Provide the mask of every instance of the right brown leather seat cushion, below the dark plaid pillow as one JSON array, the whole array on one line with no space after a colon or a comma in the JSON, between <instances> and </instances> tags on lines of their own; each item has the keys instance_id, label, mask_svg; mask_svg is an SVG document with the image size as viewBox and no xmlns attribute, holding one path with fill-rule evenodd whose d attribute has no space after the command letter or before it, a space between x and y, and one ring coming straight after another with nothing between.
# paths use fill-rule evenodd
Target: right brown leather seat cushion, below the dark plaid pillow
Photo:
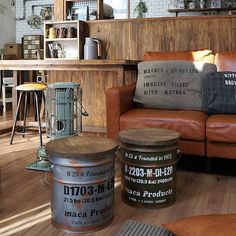
<instances>
[{"instance_id":1,"label":"right brown leather seat cushion, below the dark plaid pillow","mask_svg":"<svg viewBox=\"0 0 236 236\"><path fill-rule=\"evenodd\" d=\"M206 137L211 142L236 142L236 115L211 115L206 122Z\"/></svg>"}]
</instances>

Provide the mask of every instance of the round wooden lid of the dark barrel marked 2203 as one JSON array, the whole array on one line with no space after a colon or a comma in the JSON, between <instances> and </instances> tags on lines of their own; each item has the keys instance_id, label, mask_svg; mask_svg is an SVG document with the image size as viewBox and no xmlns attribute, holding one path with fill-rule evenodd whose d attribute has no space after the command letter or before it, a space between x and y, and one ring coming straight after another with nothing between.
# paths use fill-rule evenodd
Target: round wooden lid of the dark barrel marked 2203
<instances>
[{"instance_id":1,"label":"round wooden lid of the dark barrel marked 2203","mask_svg":"<svg viewBox=\"0 0 236 236\"><path fill-rule=\"evenodd\" d=\"M175 144L180 134L163 128L134 128L119 132L121 142L133 145L162 146Z\"/></svg>"}]
</instances>

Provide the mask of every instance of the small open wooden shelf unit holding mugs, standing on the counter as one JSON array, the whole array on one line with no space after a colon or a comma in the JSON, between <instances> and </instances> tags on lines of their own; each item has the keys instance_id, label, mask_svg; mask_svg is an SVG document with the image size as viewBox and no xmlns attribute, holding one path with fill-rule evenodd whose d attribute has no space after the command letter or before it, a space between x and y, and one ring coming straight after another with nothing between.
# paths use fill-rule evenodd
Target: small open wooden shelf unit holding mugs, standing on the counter
<instances>
[{"instance_id":1,"label":"small open wooden shelf unit holding mugs, standing on the counter","mask_svg":"<svg viewBox=\"0 0 236 236\"><path fill-rule=\"evenodd\" d=\"M74 27L75 37L73 38L47 38L46 32L49 28L55 28L56 30L61 27L68 29ZM50 56L49 45L53 45L53 48L57 45L61 45L64 51L64 58L52 58ZM84 22L83 21L45 21L44 22L44 59L73 59L78 60L83 58L83 46L84 46Z\"/></svg>"}]
</instances>

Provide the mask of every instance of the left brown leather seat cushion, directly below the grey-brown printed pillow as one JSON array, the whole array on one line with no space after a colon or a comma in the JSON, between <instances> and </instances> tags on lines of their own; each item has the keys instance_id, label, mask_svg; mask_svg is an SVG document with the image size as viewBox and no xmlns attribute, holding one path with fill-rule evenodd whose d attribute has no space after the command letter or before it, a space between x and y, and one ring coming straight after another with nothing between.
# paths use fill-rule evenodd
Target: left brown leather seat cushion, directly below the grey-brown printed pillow
<instances>
[{"instance_id":1,"label":"left brown leather seat cushion, directly below the grey-brown printed pillow","mask_svg":"<svg viewBox=\"0 0 236 236\"><path fill-rule=\"evenodd\" d=\"M120 117L120 129L161 127L179 132L182 139L203 141L206 120L201 111L135 108Z\"/></svg>"}]
</instances>

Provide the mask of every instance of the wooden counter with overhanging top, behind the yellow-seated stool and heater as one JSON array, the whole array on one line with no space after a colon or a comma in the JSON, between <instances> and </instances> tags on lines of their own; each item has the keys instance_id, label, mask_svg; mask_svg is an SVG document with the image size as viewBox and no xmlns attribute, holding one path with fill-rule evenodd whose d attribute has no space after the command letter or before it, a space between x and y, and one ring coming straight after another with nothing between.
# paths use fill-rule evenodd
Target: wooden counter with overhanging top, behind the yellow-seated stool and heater
<instances>
[{"instance_id":1,"label":"wooden counter with overhanging top, behind the yellow-seated stool and heater","mask_svg":"<svg viewBox=\"0 0 236 236\"><path fill-rule=\"evenodd\" d=\"M0 70L13 70L14 87L19 83L17 71L46 70L48 83L78 82L82 88L82 103L89 116L83 117L83 130L106 132L105 92L109 87L122 86L136 80L134 60L3 60ZM13 114L17 94L13 89Z\"/></svg>"}]
</instances>

